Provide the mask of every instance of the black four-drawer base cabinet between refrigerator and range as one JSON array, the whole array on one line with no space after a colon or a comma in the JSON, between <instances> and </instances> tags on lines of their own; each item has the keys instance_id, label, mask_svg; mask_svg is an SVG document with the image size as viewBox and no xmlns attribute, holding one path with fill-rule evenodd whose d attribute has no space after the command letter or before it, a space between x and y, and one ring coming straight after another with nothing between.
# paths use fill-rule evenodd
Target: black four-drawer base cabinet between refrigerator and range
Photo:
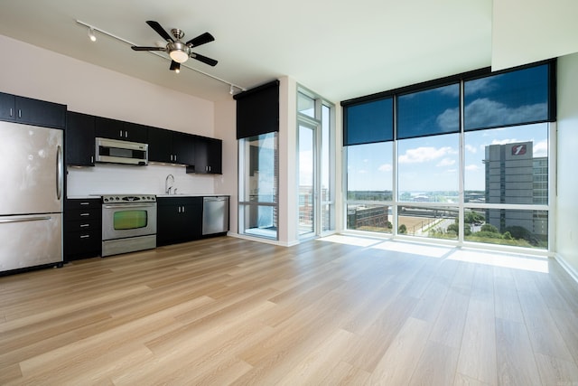
<instances>
[{"instance_id":1,"label":"black four-drawer base cabinet between refrigerator and range","mask_svg":"<svg viewBox=\"0 0 578 386\"><path fill-rule=\"evenodd\" d=\"M102 210L99 198L64 201L64 260L100 256Z\"/></svg>"}]
</instances>

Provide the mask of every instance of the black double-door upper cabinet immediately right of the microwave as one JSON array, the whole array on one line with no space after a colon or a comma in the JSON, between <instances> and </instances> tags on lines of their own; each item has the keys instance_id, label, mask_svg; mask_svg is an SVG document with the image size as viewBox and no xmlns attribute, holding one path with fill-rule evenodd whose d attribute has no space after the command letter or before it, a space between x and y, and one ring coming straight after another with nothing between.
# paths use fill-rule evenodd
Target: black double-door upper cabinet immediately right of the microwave
<instances>
[{"instance_id":1,"label":"black double-door upper cabinet immediately right of the microwave","mask_svg":"<svg viewBox=\"0 0 578 386\"><path fill-rule=\"evenodd\" d=\"M195 136L148 127L148 160L166 164L194 165Z\"/></svg>"}]
</instances>

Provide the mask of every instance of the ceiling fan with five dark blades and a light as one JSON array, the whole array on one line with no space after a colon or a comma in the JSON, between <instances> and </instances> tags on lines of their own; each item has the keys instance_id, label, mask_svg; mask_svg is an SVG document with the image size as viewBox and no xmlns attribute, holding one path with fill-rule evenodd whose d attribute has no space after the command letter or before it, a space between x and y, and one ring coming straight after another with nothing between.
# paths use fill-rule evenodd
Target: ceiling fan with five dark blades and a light
<instances>
[{"instance_id":1,"label":"ceiling fan with five dark blades and a light","mask_svg":"<svg viewBox=\"0 0 578 386\"><path fill-rule=\"evenodd\" d=\"M215 40L213 35L210 33L201 33L196 38L191 39L188 42L182 42L182 37L184 33L177 29L173 28L171 30L172 36L167 33L161 24L149 20L146 24L150 25L151 28L156 31L161 37L167 42L165 47L139 47L139 46L132 46L131 48L135 51L163 51L169 54L171 57L171 70L179 72L181 70L181 63L184 63L189 58L196 59L197 61L202 61L205 64L209 64L210 66L217 65L218 61L214 59L208 58L206 56L200 55L196 52L191 52L193 47L198 47L201 44L205 44L207 42L212 42Z\"/></svg>"}]
</instances>

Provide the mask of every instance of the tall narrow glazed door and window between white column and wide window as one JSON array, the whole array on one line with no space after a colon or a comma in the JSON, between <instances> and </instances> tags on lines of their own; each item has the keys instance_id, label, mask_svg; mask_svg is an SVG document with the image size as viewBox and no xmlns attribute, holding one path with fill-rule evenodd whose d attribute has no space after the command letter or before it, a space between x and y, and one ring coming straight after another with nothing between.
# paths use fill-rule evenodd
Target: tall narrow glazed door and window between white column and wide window
<instances>
[{"instance_id":1,"label":"tall narrow glazed door and window between white column and wide window","mask_svg":"<svg viewBox=\"0 0 578 386\"><path fill-rule=\"evenodd\" d=\"M300 238L335 229L333 106L311 91L297 92L298 232Z\"/></svg>"}]
</instances>

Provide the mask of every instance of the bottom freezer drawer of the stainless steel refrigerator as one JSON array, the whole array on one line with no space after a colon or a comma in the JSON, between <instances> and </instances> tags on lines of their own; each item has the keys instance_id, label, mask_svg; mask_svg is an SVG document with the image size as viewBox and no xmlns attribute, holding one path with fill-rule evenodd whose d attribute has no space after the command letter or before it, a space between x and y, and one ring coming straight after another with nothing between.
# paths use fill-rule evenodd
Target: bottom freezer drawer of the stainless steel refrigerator
<instances>
[{"instance_id":1,"label":"bottom freezer drawer of the stainless steel refrigerator","mask_svg":"<svg viewBox=\"0 0 578 386\"><path fill-rule=\"evenodd\" d=\"M0 216L0 271L62 263L62 214Z\"/></svg>"}]
</instances>

